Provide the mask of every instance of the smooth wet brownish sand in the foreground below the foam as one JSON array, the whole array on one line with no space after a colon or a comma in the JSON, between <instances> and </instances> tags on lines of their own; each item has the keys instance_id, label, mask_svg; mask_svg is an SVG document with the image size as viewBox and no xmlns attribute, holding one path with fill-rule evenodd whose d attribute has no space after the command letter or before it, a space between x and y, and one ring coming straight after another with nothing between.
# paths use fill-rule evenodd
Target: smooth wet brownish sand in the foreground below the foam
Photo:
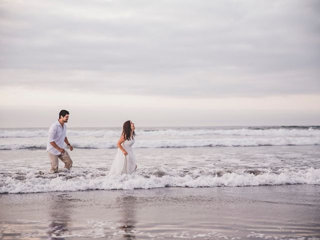
<instances>
[{"instance_id":1,"label":"smooth wet brownish sand in the foreground below the foam","mask_svg":"<svg viewBox=\"0 0 320 240\"><path fill-rule=\"evenodd\" d=\"M0 239L314 240L320 186L0 194L0 223Z\"/></svg>"}]
</instances>

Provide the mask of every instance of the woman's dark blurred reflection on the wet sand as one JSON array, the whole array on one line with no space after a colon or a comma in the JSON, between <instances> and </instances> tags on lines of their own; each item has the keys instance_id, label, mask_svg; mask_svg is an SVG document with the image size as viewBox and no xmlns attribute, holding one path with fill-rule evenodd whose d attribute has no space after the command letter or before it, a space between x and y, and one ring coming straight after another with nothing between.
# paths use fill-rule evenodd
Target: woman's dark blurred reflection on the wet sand
<instances>
[{"instance_id":1,"label":"woman's dark blurred reflection on the wet sand","mask_svg":"<svg viewBox=\"0 0 320 240\"><path fill-rule=\"evenodd\" d=\"M135 239L136 197L132 195L117 197L117 202L121 212L119 229L123 230L122 236L124 239Z\"/></svg>"}]
</instances>

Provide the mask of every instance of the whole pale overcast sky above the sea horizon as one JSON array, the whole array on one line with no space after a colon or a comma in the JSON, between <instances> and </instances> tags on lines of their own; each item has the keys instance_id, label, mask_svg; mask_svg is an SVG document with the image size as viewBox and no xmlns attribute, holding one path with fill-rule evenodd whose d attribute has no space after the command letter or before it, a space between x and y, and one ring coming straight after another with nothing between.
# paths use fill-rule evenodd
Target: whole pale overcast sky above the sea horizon
<instances>
[{"instance_id":1,"label":"whole pale overcast sky above the sea horizon","mask_svg":"<svg viewBox=\"0 0 320 240\"><path fill-rule=\"evenodd\" d=\"M320 125L318 0L0 0L0 127Z\"/></svg>"}]
</instances>

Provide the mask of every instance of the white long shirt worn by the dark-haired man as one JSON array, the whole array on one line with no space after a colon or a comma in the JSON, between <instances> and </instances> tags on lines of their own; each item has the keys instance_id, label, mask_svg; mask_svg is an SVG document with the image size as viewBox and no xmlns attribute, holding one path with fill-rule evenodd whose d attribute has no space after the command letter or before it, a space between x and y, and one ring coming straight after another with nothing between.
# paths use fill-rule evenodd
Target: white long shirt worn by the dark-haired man
<instances>
[{"instance_id":1,"label":"white long shirt worn by the dark-haired man","mask_svg":"<svg viewBox=\"0 0 320 240\"><path fill-rule=\"evenodd\" d=\"M46 150L54 155L60 155L57 149L55 149L50 142L54 141L60 148L63 148L64 138L66 136L66 125L63 124L63 128L58 120L56 120L49 128L49 137L46 144Z\"/></svg>"}]
</instances>

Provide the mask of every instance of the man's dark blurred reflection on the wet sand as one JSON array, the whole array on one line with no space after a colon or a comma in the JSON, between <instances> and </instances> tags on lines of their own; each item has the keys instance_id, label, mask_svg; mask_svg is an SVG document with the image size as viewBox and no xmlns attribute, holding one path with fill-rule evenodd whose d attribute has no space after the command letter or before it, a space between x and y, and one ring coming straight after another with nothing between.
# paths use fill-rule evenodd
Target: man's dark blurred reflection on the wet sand
<instances>
[{"instance_id":1,"label":"man's dark blurred reflection on the wet sand","mask_svg":"<svg viewBox=\"0 0 320 240\"><path fill-rule=\"evenodd\" d=\"M49 239L64 240L63 235L68 232L68 224L71 220L71 196L68 194L52 195L48 206L50 224L47 234Z\"/></svg>"}]
</instances>

